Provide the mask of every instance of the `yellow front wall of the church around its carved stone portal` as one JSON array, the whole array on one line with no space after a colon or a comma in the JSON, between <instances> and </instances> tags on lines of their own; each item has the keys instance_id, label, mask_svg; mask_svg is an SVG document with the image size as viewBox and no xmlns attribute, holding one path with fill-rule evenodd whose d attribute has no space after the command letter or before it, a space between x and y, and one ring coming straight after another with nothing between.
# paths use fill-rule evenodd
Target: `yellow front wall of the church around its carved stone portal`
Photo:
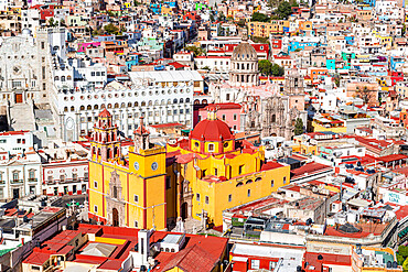
<instances>
[{"instance_id":1,"label":"yellow front wall of the church around its carved stone portal","mask_svg":"<svg viewBox=\"0 0 408 272\"><path fill-rule=\"evenodd\" d=\"M125 216L124 224L131 228L153 228L153 225L157 229L167 228L165 153L163 148L150 153L148 151L144 153L148 154L147 156L130 152L129 168L109 162L89 162L90 214L107 219L105 196L109 194L111 172L116 171L122 187L121 195L126 202L125 215L119 215ZM135 161L139 162L139 171L135 168ZM158 163L155 171L151 168L153 162ZM95 211L95 205L97 205L97 211Z\"/></svg>"}]
</instances>

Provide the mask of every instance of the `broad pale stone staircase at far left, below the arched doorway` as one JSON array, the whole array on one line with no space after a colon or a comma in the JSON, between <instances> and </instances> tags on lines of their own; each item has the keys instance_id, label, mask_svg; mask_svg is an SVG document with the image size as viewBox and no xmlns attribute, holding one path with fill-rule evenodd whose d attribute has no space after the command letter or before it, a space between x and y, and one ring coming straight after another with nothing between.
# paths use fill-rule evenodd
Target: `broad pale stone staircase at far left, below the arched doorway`
<instances>
[{"instance_id":1,"label":"broad pale stone staircase at far left, below the arched doorway","mask_svg":"<svg viewBox=\"0 0 408 272\"><path fill-rule=\"evenodd\" d=\"M33 105L31 104L15 104L9 106L8 122L10 130L35 130L35 118Z\"/></svg>"}]
</instances>

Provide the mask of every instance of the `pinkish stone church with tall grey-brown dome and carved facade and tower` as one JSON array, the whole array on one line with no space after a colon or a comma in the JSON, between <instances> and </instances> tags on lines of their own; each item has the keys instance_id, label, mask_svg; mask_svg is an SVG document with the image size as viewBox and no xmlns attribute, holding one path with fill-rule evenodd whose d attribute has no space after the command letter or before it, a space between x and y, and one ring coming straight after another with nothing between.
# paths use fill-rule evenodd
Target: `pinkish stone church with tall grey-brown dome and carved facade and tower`
<instances>
[{"instance_id":1,"label":"pinkish stone church with tall grey-brown dome and carved facade and tower","mask_svg":"<svg viewBox=\"0 0 408 272\"><path fill-rule=\"evenodd\" d=\"M228 83L210 85L214 102L238 102L243 106L240 129L262 137L293 137L294 123L307 123L303 77L299 70L287 70L284 86L259 84L258 57L247 39L235 47L230 58Z\"/></svg>"}]
</instances>

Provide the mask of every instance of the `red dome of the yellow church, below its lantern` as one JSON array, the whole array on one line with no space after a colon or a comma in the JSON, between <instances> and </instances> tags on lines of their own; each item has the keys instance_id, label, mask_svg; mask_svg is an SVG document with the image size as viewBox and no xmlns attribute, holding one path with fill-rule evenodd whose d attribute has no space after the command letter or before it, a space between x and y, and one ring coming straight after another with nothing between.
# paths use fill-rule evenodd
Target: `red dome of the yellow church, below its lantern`
<instances>
[{"instance_id":1,"label":"red dome of the yellow church, below its lantern","mask_svg":"<svg viewBox=\"0 0 408 272\"><path fill-rule=\"evenodd\" d=\"M194 130L190 133L190 139L198 141L225 141L233 140L234 135L230 132L228 124L222 120L202 120L195 126Z\"/></svg>"}]
</instances>

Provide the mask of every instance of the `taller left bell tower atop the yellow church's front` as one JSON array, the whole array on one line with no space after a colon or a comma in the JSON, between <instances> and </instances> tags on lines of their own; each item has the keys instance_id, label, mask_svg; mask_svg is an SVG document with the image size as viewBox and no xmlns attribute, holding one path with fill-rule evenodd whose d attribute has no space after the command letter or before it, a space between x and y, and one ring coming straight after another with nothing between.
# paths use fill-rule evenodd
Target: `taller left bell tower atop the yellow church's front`
<instances>
[{"instance_id":1,"label":"taller left bell tower atop the yellow church's front","mask_svg":"<svg viewBox=\"0 0 408 272\"><path fill-rule=\"evenodd\" d=\"M90 139L92 159L95 161L118 162L121 156L118 128L107 109L100 111Z\"/></svg>"}]
</instances>

